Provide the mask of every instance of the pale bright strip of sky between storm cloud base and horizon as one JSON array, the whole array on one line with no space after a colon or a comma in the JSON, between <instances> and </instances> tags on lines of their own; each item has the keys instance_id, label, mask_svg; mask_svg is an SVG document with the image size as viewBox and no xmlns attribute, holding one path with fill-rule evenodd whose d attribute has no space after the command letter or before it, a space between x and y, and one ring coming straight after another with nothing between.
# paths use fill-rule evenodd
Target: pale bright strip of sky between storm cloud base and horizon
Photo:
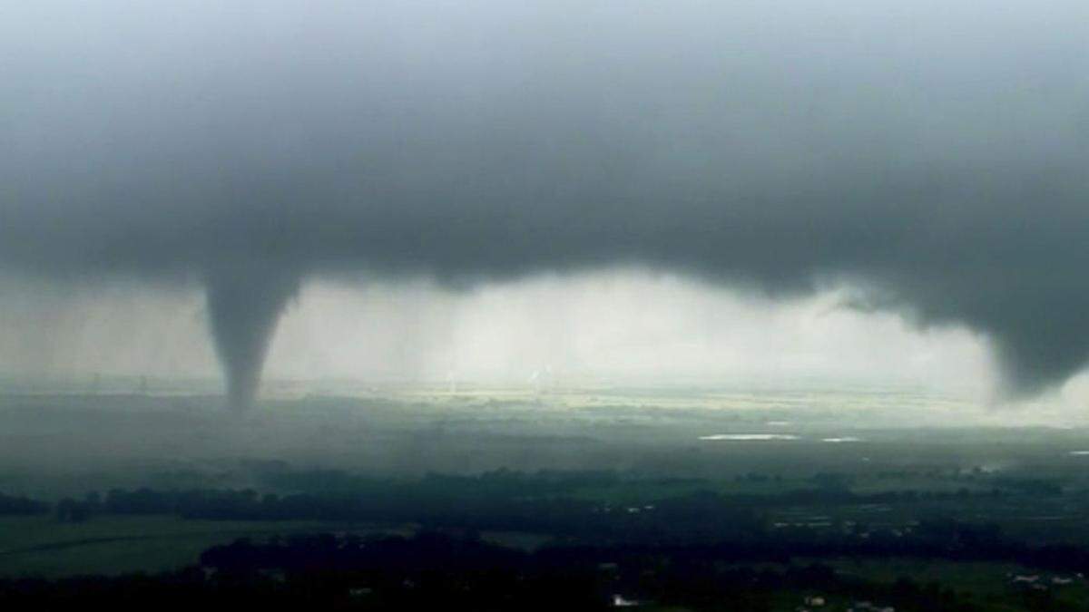
<instances>
[{"instance_id":1,"label":"pale bright strip of sky between storm cloud base and horizon","mask_svg":"<svg viewBox=\"0 0 1089 612\"><path fill-rule=\"evenodd\" d=\"M844 291L772 302L673 274L546 276L451 293L428 282L315 282L289 306L280 379L466 384L910 384L982 395L987 348L956 328L840 307ZM196 287L32 283L0 309L0 372L217 375ZM44 331L45 330L45 331ZM834 357L834 358L833 358Z\"/></svg>"}]
</instances>

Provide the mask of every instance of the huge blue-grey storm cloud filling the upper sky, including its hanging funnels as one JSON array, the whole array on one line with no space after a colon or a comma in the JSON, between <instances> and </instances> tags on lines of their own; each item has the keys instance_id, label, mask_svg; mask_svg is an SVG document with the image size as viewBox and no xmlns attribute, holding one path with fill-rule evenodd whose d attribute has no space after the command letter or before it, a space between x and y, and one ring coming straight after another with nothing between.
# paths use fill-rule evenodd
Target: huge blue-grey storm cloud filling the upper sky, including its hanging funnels
<instances>
[{"instance_id":1,"label":"huge blue-grey storm cloud filling the upper sky, including its hanging funnels","mask_svg":"<svg viewBox=\"0 0 1089 612\"><path fill-rule=\"evenodd\" d=\"M849 281L1014 391L1089 360L1081 2L169 4L3 9L0 257L199 276L242 395L357 269Z\"/></svg>"}]
</instances>

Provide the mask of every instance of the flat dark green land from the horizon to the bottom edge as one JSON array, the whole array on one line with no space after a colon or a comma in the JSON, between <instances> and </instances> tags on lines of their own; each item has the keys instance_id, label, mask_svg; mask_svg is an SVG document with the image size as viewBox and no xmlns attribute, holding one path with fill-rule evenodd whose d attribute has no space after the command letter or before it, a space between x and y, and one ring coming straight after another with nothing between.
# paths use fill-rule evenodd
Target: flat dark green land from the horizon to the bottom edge
<instances>
[{"instance_id":1,"label":"flat dark green land from the horizon to the bottom edge","mask_svg":"<svg viewBox=\"0 0 1089 612\"><path fill-rule=\"evenodd\" d=\"M4 396L0 602L1089 602L1089 430L1056 415L865 389L277 397L238 416L167 390Z\"/></svg>"}]
</instances>

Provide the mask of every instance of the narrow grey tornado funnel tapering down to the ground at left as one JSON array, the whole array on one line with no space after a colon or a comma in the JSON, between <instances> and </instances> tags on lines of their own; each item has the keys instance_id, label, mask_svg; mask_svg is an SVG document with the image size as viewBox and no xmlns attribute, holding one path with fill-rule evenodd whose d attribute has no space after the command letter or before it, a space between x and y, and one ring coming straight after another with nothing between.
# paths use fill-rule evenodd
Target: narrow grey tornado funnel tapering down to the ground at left
<instances>
[{"instance_id":1,"label":"narrow grey tornado funnel tapering down to the ground at left","mask_svg":"<svg viewBox=\"0 0 1089 612\"><path fill-rule=\"evenodd\" d=\"M207 273L208 317L231 408L257 396L277 322L298 291L298 274L260 264L217 266Z\"/></svg>"}]
</instances>

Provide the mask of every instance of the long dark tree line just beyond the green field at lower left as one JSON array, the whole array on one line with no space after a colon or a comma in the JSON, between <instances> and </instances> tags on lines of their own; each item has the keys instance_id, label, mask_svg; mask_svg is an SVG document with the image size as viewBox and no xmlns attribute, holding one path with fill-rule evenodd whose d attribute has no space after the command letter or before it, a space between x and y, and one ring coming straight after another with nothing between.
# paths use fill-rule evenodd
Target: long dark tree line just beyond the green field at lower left
<instances>
[{"instance_id":1,"label":"long dark tree line just beyond the green field at lower left","mask_svg":"<svg viewBox=\"0 0 1089 612\"><path fill-rule=\"evenodd\" d=\"M65 498L57 517L86 521L99 514L170 514L185 518L222 521L366 521L378 523L464 524L487 529L572 533L578 524L608 533L613 527L639 528L648 523L693 518L707 525L727 518L748 529L756 515L771 509L803 505L897 504L916 501L965 499L960 492L889 491L860 494L837 488L798 489L771 494L694 492L657 500L644 512L627 515L625 507L559 494L562 489L534 491L525 484L481 484L462 477L432 476L416 482L360 480L354 487L319 492L260 494L252 489L134 490L113 489L105 497L88 493L83 500ZM993 491L977 495L1001 495ZM48 512L49 506L20 500L22 514ZM2 502L0 502L2 503ZM575 529L576 531L578 529Z\"/></svg>"}]
</instances>

